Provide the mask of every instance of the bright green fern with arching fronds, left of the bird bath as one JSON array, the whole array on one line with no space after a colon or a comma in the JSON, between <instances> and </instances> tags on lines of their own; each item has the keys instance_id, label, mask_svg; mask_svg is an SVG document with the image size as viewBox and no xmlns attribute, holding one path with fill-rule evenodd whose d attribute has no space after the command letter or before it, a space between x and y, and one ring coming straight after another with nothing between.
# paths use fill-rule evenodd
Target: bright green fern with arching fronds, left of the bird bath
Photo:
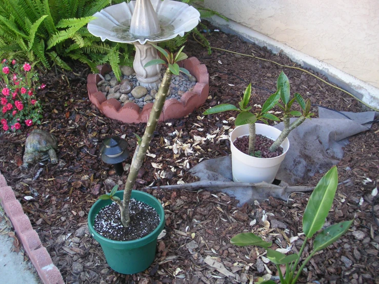
<instances>
[{"instance_id":1,"label":"bright green fern with arching fronds, left of the bird bath","mask_svg":"<svg viewBox=\"0 0 379 284\"><path fill-rule=\"evenodd\" d=\"M0 56L27 58L48 69L71 70L67 59L79 60L97 72L109 62L119 78L119 65L131 65L127 44L102 43L86 28L95 12L116 0L4 0L0 6Z\"/></svg>"}]
</instances>

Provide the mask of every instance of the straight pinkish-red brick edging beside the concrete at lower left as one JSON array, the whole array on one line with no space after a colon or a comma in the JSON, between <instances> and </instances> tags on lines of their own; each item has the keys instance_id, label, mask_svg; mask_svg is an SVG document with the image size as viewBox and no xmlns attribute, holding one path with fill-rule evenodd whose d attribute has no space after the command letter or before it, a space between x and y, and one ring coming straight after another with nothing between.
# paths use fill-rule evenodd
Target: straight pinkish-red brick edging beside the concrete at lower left
<instances>
[{"instance_id":1,"label":"straight pinkish-red brick edging beside the concrete at lower left","mask_svg":"<svg viewBox=\"0 0 379 284\"><path fill-rule=\"evenodd\" d=\"M12 188L7 186L7 181L1 173L0 203L12 221L14 230L44 284L64 284L61 272L53 265L49 253L42 246L37 232L33 230L28 216L24 214L20 202L16 199Z\"/></svg>"}]
</instances>

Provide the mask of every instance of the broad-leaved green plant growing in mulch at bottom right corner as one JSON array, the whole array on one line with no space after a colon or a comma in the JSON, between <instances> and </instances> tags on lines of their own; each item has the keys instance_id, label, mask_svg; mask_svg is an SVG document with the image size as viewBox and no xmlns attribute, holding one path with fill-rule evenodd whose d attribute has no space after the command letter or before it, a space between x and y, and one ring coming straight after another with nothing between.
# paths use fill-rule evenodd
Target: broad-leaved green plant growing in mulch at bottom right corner
<instances>
[{"instance_id":1,"label":"broad-leaved green plant growing in mulch at bottom right corner","mask_svg":"<svg viewBox=\"0 0 379 284\"><path fill-rule=\"evenodd\" d=\"M297 278L301 275L304 267L314 254L333 244L333 242L346 233L353 222L353 220L340 222L318 233L313 240L313 250L303 261L296 273L297 265L300 264L300 258L307 245L308 239L312 238L314 234L324 226L325 219L333 204L337 185L337 168L333 167L321 178L317 186L314 188L303 215L303 232L305 234L305 239L298 254L294 253L285 255L281 252L272 250L269 248L271 247L272 242L266 242L253 233L238 234L231 238L230 242L236 246L259 246L265 248L267 250L267 258L277 267L281 283L295 284ZM285 275L282 274L280 269L281 265L286 266ZM266 280L260 283L274 284L275 282L272 280Z\"/></svg>"}]
</instances>

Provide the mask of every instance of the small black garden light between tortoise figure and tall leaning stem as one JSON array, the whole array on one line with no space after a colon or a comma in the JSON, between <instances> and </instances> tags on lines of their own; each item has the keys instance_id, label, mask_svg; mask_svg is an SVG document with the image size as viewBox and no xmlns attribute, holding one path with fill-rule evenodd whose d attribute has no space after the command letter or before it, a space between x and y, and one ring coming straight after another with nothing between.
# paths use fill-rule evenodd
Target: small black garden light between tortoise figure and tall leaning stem
<instances>
[{"instance_id":1,"label":"small black garden light between tortoise figure and tall leaning stem","mask_svg":"<svg viewBox=\"0 0 379 284\"><path fill-rule=\"evenodd\" d=\"M102 160L106 164L112 164L116 173L120 176L124 172L123 161L129 157L129 151L126 149L127 147L127 141L117 136L105 139L100 146Z\"/></svg>"}]
</instances>

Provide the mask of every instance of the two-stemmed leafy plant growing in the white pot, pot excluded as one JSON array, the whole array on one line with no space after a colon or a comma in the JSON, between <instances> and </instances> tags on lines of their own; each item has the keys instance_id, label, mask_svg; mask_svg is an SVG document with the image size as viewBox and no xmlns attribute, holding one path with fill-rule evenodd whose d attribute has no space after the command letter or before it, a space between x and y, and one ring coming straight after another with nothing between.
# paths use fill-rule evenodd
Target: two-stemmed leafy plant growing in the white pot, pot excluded
<instances>
[{"instance_id":1,"label":"two-stemmed leafy plant growing in the white pot, pot excluded","mask_svg":"<svg viewBox=\"0 0 379 284\"><path fill-rule=\"evenodd\" d=\"M224 111L238 111L238 115L235 119L235 125L249 125L249 149L248 154L254 156L255 147L255 123L257 120L262 121L268 125L267 120L280 121L280 119L270 113L270 110L276 105L284 111L284 130L280 136L274 141L270 147L271 152L275 152L276 149L283 143L284 139L288 134L295 129L297 126L301 125L306 118L310 118L313 114L310 113L310 100L307 99L305 102L304 98L295 93L294 97L290 99L290 85L286 74L282 71L277 78L277 90L275 93L269 96L266 102L263 104L261 109L256 110L254 113L250 112L252 109L249 105L251 98L251 84L249 84L244 92L244 96L241 102L238 103L240 108L230 104L221 104L206 110L203 114L214 114ZM279 103L281 100L282 104ZM296 102L300 105L303 112L291 110L293 103ZM295 121L290 123L291 116L300 116Z\"/></svg>"}]
</instances>

